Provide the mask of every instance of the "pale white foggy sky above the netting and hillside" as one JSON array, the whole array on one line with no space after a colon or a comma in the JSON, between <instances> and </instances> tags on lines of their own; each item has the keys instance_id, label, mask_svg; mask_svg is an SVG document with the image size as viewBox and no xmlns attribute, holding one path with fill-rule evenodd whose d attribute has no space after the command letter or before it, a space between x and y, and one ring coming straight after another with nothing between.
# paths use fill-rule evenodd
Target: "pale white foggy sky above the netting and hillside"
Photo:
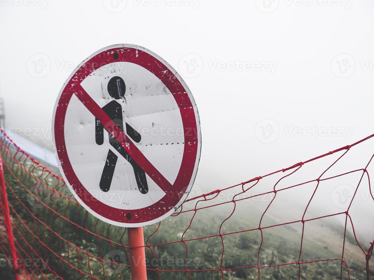
<instances>
[{"instance_id":1,"label":"pale white foggy sky above the netting and hillside","mask_svg":"<svg viewBox=\"0 0 374 280\"><path fill-rule=\"evenodd\" d=\"M38 130L35 141L47 131L52 148L53 106L75 65L138 44L191 89L196 184L223 188L373 133L373 11L370 0L1 0L6 125Z\"/></svg>"}]
</instances>

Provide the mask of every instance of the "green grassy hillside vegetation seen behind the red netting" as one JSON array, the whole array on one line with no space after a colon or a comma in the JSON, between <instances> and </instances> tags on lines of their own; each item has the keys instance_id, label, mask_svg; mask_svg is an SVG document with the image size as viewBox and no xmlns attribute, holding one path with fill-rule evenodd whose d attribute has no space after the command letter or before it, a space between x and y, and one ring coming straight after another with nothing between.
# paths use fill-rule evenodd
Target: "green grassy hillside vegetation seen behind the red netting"
<instances>
[{"instance_id":1,"label":"green grassy hillside vegetation seen behind the red netting","mask_svg":"<svg viewBox=\"0 0 374 280\"><path fill-rule=\"evenodd\" d=\"M26 257L26 255L30 255L32 258L41 256L50 269L64 279L91 279L91 274L93 277L103 279L104 272L105 279L120 279L121 276L122 279L130 279L129 267L123 266L124 264L129 264L128 258L125 257L126 254L123 257L116 256L113 258L119 265L108 262L102 263L98 258L93 257L99 256L104 260L110 260L111 251L120 250L125 252L123 246L113 243L117 242L125 246L127 245L127 233L124 233L124 228L113 225L108 226L108 224L88 214L82 206L69 201L56 192L47 190L40 184L36 185L37 180L40 180L46 182L48 186L63 195L71 195L66 186L62 185L60 181L45 170L37 167L28 159L22 161L25 159L24 156L18 158L18 161L22 162L22 165L15 164L13 159L9 155L6 155L4 151L3 158L6 163L6 168L4 169L7 195L11 205L10 214L15 224L13 231L17 242L25 251L22 252L19 250L22 252L23 257ZM13 176L7 168L15 175ZM28 172L25 172L25 170ZM35 178L31 177L29 172L34 174ZM39 189L35 189L35 186ZM38 203L33 204L34 200L27 190L42 198L47 207L43 205L40 207ZM71 196L71 199L74 200L73 196ZM53 209L54 212L49 208ZM258 210L248 208L248 212L250 213L251 211L254 213ZM230 214L230 212L225 211L209 213L194 217L193 223L191 223L190 228L183 236L184 240L218 234L218 229L222 221ZM181 240L192 215L193 212L189 212L176 217L169 217L162 221L159 230L150 237L148 244L152 245ZM69 223L63 217L78 224L83 229ZM252 215L245 215L241 218L232 217L224 223L223 230L229 232L232 231L230 230L232 228L235 228L235 231L239 231L258 227L258 220L251 217ZM19 218L24 221L25 225L21 223ZM275 221L274 224L276 224ZM3 227L3 225L1 226ZM150 236L156 230L157 226L158 224L145 227L144 236L146 238ZM55 233L47 227L51 228ZM94 234L88 233L85 229ZM330 228L330 230L341 232L341 228ZM95 233L112 240L112 242L98 239ZM4 246L4 243L7 243L7 239L6 236L3 236L4 232L1 234L0 242L3 242ZM21 235L24 239L22 239ZM39 242L38 239L46 246ZM70 244L68 245L62 239L67 240ZM222 267L224 269L257 265L258 249L261 243L260 230L225 235L223 236L223 241L224 255ZM346 242L355 245L355 238L347 233ZM329 244L329 240L326 240L325 243ZM186 244L188 247L187 256L186 246L183 242L151 246L156 258L154 258L150 249L146 248L148 268L156 268L155 260L157 260L160 270L184 270L184 259L186 258L188 270L218 269L218 271L190 271L190 279L213 280L222 278L221 271L219 271L222 255L222 241L220 236L191 240L187 241ZM7 247L7 245L4 247ZM17 244L16 247L19 248ZM328 246L321 247L314 240L304 238L301 261L324 259L327 256L328 258L341 257L341 252L330 250ZM296 262L298 261L299 252L300 232L295 230L291 225L263 230L260 266ZM88 254L92 256L89 257ZM0 257L3 266L0 270L0 279L11 279L10 267L6 264L4 255L0 255ZM70 263L71 266L61 259ZM349 263L350 279L366 279L364 261L365 258L362 255L362 259L355 258ZM301 264L300 266L301 279L340 279L340 261L322 261ZM88 275L80 274L73 267L79 268L79 270ZM43 277L36 268L33 267L32 269L40 279L45 277L47 279L57 278L48 268L42 271L44 274ZM298 264L262 268L261 279L298 279L298 270ZM161 279L188 279L188 274L186 271L160 272L160 277ZM258 269L254 267L225 271L224 277L225 279L238 280L258 279ZM148 279L159 279L157 271L148 270ZM343 279L348 279L345 266L343 267Z\"/></svg>"}]
</instances>

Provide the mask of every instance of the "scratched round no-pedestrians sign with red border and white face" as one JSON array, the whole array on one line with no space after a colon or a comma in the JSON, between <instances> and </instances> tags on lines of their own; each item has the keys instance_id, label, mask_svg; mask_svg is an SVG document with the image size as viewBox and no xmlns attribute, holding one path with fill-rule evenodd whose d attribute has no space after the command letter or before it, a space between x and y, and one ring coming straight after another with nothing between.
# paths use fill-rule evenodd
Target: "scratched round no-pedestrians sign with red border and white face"
<instances>
[{"instance_id":1,"label":"scratched round no-pedestrians sign with red border and white face","mask_svg":"<svg viewBox=\"0 0 374 280\"><path fill-rule=\"evenodd\" d=\"M66 184L102 221L157 223L191 190L201 150L196 103L150 50L117 44L80 63L62 86L52 128Z\"/></svg>"}]
</instances>

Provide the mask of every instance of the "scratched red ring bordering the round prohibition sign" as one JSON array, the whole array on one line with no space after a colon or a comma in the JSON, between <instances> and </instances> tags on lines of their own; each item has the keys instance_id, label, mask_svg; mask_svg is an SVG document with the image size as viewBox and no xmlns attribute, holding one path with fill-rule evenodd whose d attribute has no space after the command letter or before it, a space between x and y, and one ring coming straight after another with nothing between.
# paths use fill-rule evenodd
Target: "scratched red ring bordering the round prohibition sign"
<instances>
[{"instance_id":1,"label":"scratched red ring bordering the round prohibition sign","mask_svg":"<svg viewBox=\"0 0 374 280\"><path fill-rule=\"evenodd\" d=\"M114 59L113 54L118 53L118 58ZM151 206L136 210L126 210L114 208L101 201L88 192L77 178L70 160L67 155L64 137L64 122L68 103L76 92L76 85L80 84L88 75L96 69L113 62L131 62L142 66L153 73L172 93L178 107L180 108L183 128L184 128L184 152L181 167L177 178L173 184L173 190L167 192L158 202ZM62 89L56 109L53 123L55 149L58 159L61 162L61 168L71 188L93 212L110 221L117 223L135 224L146 223L162 217L172 208L177 206L183 198L187 187L192 183L191 178L194 172L198 143L200 139L197 131L197 123L194 107L191 103L188 92L183 87L175 74L151 54L134 47L117 47L104 50L83 63L79 69L74 72L70 80L67 81ZM126 218L126 214L131 214L131 220Z\"/></svg>"}]
</instances>

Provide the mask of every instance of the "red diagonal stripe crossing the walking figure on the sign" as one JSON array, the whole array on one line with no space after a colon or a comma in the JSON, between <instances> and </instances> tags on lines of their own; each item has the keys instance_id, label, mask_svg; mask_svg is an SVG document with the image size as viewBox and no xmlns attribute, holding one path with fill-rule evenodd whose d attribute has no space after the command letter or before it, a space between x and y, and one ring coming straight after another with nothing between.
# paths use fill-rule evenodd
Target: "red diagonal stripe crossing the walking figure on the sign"
<instances>
[{"instance_id":1,"label":"red diagonal stripe crossing the walking figure on the sign","mask_svg":"<svg viewBox=\"0 0 374 280\"><path fill-rule=\"evenodd\" d=\"M154 167L143 155L137 146L126 136L126 134L113 122L101 107L89 96L81 85L76 85L78 91L74 94L80 102L97 118L105 129L121 144L134 161L165 193L171 190L172 184ZM114 131L115 130L115 131ZM126 142L128 143L126 145Z\"/></svg>"}]
</instances>

